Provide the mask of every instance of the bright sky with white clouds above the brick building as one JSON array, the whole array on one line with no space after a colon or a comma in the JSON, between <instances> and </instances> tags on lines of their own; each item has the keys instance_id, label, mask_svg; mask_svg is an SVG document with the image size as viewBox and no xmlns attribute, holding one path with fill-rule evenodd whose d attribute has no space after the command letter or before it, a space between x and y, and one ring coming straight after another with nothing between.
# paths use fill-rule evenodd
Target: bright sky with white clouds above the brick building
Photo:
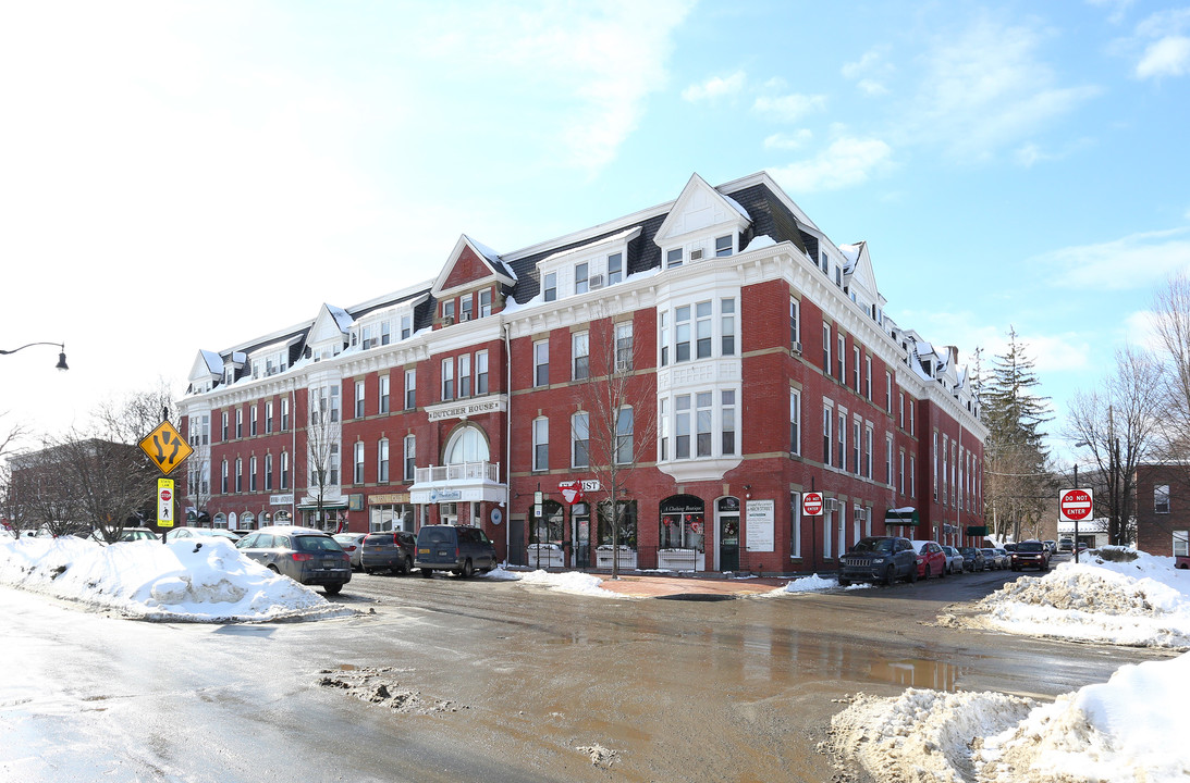
<instances>
[{"instance_id":1,"label":"bright sky with white clouds above the brick building","mask_svg":"<svg viewBox=\"0 0 1190 783\"><path fill-rule=\"evenodd\" d=\"M0 423L769 170L1057 432L1190 266L1188 88L1190 4L6 4L0 348L71 371L0 358Z\"/></svg>"}]
</instances>

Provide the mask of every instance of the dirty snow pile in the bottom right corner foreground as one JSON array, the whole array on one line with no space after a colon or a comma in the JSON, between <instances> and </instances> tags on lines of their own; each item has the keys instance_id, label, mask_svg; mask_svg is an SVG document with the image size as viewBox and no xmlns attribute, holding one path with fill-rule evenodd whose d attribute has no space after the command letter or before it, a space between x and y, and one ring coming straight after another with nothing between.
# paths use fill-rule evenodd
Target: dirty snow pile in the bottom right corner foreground
<instances>
[{"instance_id":1,"label":"dirty snow pile in the bottom right corner foreground","mask_svg":"<svg viewBox=\"0 0 1190 783\"><path fill-rule=\"evenodd\" d=\"M1047 705L914 688L895 699L859 694L832 720L825 750L889 782L1184 781L1186 682L1190 653L1121 667Z\"/></svg>"}]
</instances>

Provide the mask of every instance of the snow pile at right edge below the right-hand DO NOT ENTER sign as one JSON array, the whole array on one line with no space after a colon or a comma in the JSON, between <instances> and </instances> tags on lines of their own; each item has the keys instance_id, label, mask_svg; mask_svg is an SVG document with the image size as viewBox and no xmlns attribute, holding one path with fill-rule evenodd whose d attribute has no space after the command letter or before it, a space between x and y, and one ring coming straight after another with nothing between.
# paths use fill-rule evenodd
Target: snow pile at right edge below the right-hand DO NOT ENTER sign
<instances>
[{"instance_id":1,"label":"snow pile at right edge below the right-hand DO NOT ENTER sign","mask_svg":"<svg viewBox=\"0 0 1190 783\"><path fill-rule=\"evenodd\" d=\"M1190 649L1190 572L1172 557L1104 548L1009 582L976 611L967 623L1010 633Z\"/></svg>"}]
</instances>

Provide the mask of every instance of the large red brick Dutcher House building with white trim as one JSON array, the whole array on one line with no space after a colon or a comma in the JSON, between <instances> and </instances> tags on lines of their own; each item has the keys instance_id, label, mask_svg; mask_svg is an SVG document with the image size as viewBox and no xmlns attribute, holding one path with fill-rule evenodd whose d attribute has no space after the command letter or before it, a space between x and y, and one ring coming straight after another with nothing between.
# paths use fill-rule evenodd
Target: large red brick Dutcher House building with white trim
<instances>
[{"instance_id":1,"label":"large red brick Dutcher House building with white trim","mask_svg":"<svg viewBox=\"0 0 1190 783\"><path fill-rule=\"evenodd\" d=\"M475 524L514 563L576 568L609 564L613 507L621 568L967 543L977 403L957 349L884 308L866 244L829 241L765 173L695 175L520 251L464 235L431 282L200 351L190 504L232 528Z\"/></svg>"}]
</instances>

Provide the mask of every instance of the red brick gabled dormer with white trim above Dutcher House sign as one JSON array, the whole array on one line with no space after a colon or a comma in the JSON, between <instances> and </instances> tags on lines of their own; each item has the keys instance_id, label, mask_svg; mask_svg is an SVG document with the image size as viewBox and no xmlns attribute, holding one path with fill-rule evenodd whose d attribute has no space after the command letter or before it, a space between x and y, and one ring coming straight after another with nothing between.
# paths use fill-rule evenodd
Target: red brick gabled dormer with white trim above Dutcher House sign
<instances>
[{"instance_id":1,"label":"red brick gabled dormer with white trim above Dutcher House sign","mask_svg":"<svg viewBox=\"0 0 1190 783\"><path fill-rule=\"evenodd\" d=\"M434 328L499 312L505 289L515 284L516 274L499 253L461 235L430 290L437 301Z\"/></svg>"}]
</instances>

